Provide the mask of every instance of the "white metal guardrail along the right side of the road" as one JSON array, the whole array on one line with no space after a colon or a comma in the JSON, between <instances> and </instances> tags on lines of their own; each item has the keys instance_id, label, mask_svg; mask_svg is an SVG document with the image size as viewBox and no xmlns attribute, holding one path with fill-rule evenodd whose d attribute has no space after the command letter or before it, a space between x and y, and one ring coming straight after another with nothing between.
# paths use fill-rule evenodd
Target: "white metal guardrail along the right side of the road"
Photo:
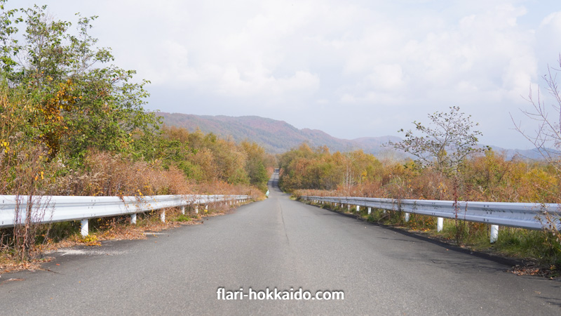
<instances>
[{"instance_id":1,"label":"white metal guardrail along the right side of the road","mask_svg":"<svg viewBox=\"0 0 561 316\"><path fill-rule=\"evenodd\" d=\"M438 218L437 230L442 230L443 218L457 218L471 222L491 225L491 242L499 236L499 225L515 228L543 230L553 228L561 230L560 204L538 203L503 203L503 202L463 202L436 201L425 199L379 199L373 197L316 197L302 196L301 199L322 203L346 204L348 208L356 205L372 209L405 212L405 221L410 213L434 216Z\"/></svg>"}]
</instances>

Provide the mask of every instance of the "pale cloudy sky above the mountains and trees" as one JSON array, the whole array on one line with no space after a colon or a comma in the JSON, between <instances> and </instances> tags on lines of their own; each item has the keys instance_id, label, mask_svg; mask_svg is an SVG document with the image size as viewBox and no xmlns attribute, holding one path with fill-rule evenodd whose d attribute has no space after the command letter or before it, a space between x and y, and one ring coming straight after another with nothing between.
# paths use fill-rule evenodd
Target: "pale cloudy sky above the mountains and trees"
<instances>
[{"instance_id":1,"label":"pale cloudy sky above the mountains and trees","mask_svg":"<svg viewBox=\"0 0 561 316\"><path fill-rule=\"evenodd\" d=\"M60 20L99 15L116 65L148 79L147 108L258 115L338 138L400 136L457 105L482 143L530 144L520 108L561 53L559 0L10 1Z\"/></svg>"}]
</instances>

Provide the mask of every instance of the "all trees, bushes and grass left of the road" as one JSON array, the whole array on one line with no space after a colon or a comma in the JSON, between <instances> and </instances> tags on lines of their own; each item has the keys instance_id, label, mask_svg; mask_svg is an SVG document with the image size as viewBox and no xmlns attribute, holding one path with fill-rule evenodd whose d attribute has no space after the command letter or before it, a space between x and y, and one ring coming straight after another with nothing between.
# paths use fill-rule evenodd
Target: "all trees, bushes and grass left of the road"
<instances>
[{"instance_id":1,"label":"all trees, bushes and grass left of the road","mask_svg":"<svg viewBox=\"0 0 561 316\"><path fill-rule=\"evenodd\" d=\"M149 81L115 65L110 48L90 36L97 17L72 25L46 6L5 5L0 0L0 195L263 197L275 157L255 143L162 126L144 109ZM32 225L46 213L45 199L27 207L19 225L0 230L0 265L29 261L48 242L81 238L76 223ZM140 223L153 221L148 214ZM87 242L95 243L127 220L93 222Z\"/></svg>"}]
</instances>

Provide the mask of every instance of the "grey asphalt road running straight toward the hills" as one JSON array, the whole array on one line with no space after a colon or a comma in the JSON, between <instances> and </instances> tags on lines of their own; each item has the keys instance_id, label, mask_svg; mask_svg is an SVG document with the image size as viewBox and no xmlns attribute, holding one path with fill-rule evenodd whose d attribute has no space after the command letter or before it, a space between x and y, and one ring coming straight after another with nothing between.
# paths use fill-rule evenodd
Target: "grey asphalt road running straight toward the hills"
<instances>
[{"instance_id":1,"label":"grey asphalt road running straight toward the hills","mask_svg":"<svg viewBox=\"0 0 561 316\"><path fill-rule=\"evenodd\" d=\"M561 315L561 282L518 277L275 187L203 225L67 249L45 268L1 276L1 315ZM344 300L224 301L219 287L337 290Z\"/></svg>"}]
</instances>

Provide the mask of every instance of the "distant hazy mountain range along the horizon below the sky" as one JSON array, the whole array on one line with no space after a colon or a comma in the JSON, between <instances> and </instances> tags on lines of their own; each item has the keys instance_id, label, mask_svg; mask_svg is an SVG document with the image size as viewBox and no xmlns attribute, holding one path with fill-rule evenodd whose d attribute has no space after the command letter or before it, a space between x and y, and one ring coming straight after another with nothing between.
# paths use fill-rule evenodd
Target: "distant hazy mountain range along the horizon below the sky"
<instances>
[{"instance_id":1,"label":"distant hazy mountain range along the horizon below the sky","mask_svg":"<svg viewBox=\"0 0 561 316\"><path fill-rule=\"evenodd\" d=\"M326 145L332 152L362 149L370 154L381 154L388 151L382 144L390 140L393 142L401 140L398 136L363 137L352 140L335 138L317 129L297 129L285 121L256 116L227 117L165 112L158 112L158 115L168 126L183 127L189 131L200 129L204 133L212 132L223 138L231 137L236 142L250 140L262 145L272 154L287 152L302 143L314 147ZM515 154L529 159L541 159L536 150L491 147L497 152L505 152L509 159Z\"/></svg>"}]
</instances>

